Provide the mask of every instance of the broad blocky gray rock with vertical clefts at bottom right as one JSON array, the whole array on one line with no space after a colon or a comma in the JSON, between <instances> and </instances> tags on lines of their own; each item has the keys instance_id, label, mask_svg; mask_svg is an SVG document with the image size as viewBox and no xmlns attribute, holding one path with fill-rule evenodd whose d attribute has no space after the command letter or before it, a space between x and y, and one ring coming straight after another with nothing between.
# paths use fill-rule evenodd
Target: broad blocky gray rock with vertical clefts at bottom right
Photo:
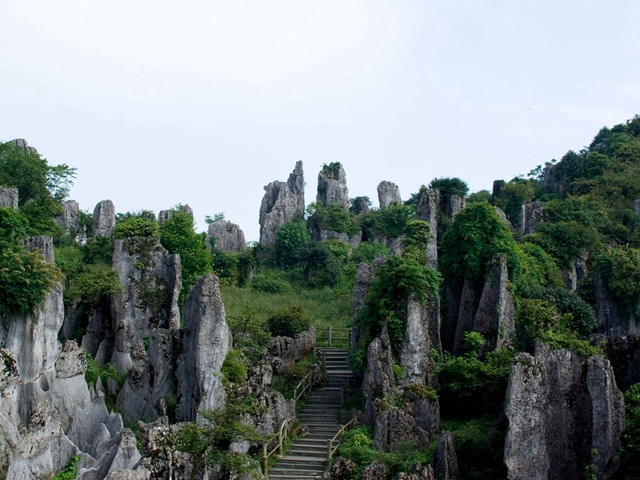
<instances>
[{"instance_id":1,"label":"broad blocky gray rock with vertical clefts at bottom right","mask_svg":"<svg viewBox=\"0 0 640 480\"><path fill-rule=\"evenodd\" d=\"M513 363L505 411L508 477L581 478L588 465L599 479L619 464L624 399L613 369L600 356L568 350L519 354Z\"/></svg>"}]
</instances>

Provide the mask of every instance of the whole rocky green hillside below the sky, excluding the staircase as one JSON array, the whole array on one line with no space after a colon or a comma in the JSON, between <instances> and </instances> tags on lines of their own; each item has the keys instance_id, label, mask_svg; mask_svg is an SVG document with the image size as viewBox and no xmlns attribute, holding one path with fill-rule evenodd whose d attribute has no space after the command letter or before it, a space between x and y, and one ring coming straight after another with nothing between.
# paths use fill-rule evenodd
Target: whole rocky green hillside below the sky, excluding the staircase
<instances>
[{"instance_id":1,"label":"whole rocky green hillside below the sky, excluding the staircase","mask_svg":"<svg viewBox=\"0 0 640 480\"><path fill-rule=\"evenodd\" d=\"M75 175L0 144L0 476L264 478L332 327L358 426L327 479L640 478L640 117L379 208L340 163L305 203L298 162L249 245L186 204L82 211Z\"/></svg>"}]
</instances>

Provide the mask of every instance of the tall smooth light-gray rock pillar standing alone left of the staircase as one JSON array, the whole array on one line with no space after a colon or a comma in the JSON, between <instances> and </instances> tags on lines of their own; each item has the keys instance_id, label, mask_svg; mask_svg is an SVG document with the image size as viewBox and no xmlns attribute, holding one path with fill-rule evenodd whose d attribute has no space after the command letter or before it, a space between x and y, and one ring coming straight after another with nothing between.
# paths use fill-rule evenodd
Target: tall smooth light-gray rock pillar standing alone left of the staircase
<instances>
[{"instance_id":1,"label":"tall smooth light-gray rock pillar standing alone left of the staircase","mask_svg":"<svg viewBox=\"0 0 640 480\"><path fill-rule=\"evenodd\" d=\"M182 421L204 421L197 410L224 406L220 368L231 347L231 332L213 274L198 278L184 305L183 354L178 360Z\"/></svg>"}]
</instances>

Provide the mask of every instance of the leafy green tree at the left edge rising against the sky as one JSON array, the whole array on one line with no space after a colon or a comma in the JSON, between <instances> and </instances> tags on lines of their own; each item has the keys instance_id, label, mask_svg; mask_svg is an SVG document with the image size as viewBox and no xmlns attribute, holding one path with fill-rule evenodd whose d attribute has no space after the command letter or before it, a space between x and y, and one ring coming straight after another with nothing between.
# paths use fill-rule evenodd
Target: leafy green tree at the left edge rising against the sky
<instances>
[{"instance_id":1,"label":"leafy green tree at the left edge rising against the sky","mask_svg":"<svg viewBox=\"0 0 640 480\"><path fill-rule=\"evenodd\" d=\"M62 213L60 202L74 177L74 168L51 166L13 142L0 143L0 185L18 189L19 208L27 219L29 235L60 233L53 219Z\"/></svg>"}]
</instances>

